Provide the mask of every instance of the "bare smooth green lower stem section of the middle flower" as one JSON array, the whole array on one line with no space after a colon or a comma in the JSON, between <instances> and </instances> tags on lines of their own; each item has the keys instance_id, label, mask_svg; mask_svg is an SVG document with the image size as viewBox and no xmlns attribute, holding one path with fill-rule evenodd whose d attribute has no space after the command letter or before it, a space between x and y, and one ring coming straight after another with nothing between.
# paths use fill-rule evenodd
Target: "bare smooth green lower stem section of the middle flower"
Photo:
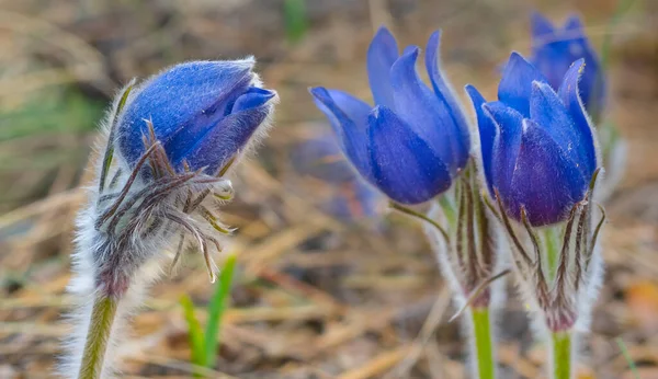
<instances>
[{"instance_id":1,"label":"bare smooth green lower stem section of the middle flower","mask_svg":"<svg viewBox=\"0 0 658 379\"><path fill-rule=\"evenodd\" d=\"M494 379L496 377L496 363L494 360L494 342L488 308L474 308L473 337L475 338L475 357L479 379Z\"/></svg>"}]
</instances>

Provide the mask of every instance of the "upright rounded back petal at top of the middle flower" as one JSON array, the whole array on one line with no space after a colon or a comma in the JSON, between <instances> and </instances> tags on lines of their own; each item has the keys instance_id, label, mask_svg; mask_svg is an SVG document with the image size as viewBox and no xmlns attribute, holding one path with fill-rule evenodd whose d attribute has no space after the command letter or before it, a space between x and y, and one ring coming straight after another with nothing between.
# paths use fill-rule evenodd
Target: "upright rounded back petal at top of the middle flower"
<instances>
[{"instance_id":1,"label":"upright rounded back petal at top of the middle flower","mask_svg":"<svg viewBox=\"0 0 658 379\"><path fill-rule=\"evenodd\" d=\"M390 32L382 26L367 48L367 78L375 104L393 107L390 67L398 58L398 46Z\"/></svg>"}]
</instances>

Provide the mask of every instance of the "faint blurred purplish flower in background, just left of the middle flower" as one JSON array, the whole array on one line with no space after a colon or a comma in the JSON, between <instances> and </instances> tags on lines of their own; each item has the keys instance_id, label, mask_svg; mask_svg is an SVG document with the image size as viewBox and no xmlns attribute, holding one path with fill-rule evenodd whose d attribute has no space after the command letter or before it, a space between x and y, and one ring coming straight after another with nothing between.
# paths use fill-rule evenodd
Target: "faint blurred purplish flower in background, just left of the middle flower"
<instances>
[{"instance_id":1,"label":"faint blurred purplish flower in background, just left of the middle flower","mask_svg":"<svg viewBox=\"0 0 658 379\"><path fill-rule=\"evenodd\" d=\"M321 133L305 139L291 151L295 171L322 181L331 196L321 208L341 220L375 217L384 196L365 183L343 157L336 138Z\"/></svg>"}]
</instances>

